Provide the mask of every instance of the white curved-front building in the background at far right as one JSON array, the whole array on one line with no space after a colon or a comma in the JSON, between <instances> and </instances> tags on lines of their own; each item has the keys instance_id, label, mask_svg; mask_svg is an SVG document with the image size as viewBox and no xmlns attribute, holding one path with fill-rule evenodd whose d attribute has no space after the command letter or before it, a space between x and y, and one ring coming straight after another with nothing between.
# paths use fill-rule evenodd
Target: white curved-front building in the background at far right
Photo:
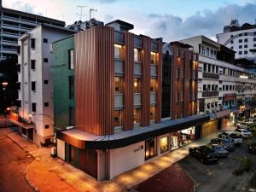
<instances>
[{"instance_id":1,"label":"white curved-front building in the background at far right","mask_svg":"<svg viewBox=\"0 0 256 192\"><path fill-rule=\"evenodd\" d=\"M238 20L232 20L224 26L224 32L216 35L218 43L236 51L236 59L256 58L256 24L239 26Z\"/></svg>"}]
</instances>

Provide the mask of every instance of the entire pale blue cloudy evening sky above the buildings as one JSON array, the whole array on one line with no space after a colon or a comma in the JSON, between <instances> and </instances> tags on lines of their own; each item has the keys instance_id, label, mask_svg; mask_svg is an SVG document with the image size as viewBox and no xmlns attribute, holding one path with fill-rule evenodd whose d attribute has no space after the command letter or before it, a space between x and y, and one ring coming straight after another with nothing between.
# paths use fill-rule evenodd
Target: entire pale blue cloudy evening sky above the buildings
<instances>
[{"instance_id":1,"label":"entire pale blue cloudy evening sky above the buildings","mask_svg":"<svg viewBox=\"0 0 256 192\"><path fill-rule=\"evenodd\" d=\"M205 35L214 39L231 19L255 23L256 0L3 0L3 7L64 20L67 25L89 19L89 9L97 20L108 23L125 20L134 25L132 32L165 42Z\"/></svg>"}]
</instances>

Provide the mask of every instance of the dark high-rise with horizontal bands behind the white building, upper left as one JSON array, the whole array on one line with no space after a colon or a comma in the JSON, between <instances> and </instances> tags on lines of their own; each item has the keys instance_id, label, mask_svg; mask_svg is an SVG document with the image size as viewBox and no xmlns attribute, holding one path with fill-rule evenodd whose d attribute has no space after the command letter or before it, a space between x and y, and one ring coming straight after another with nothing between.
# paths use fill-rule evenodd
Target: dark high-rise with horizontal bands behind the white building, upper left
<instances>
[{"instance_id":1,"label":"dark high-rise with horizontal bands behind the white building, upper left","mask_svg":"<svg viewBox=\"0 0 256 192\"><path fill-rule=\"evenodd\" d=\"M5 59L7 55L17 55L18 38L31 31L35 26L42 23L65 26L65 22L61 20L3 8L2 0L0 1L0 8L0 60Z\"/></svg>"}]
</instances>

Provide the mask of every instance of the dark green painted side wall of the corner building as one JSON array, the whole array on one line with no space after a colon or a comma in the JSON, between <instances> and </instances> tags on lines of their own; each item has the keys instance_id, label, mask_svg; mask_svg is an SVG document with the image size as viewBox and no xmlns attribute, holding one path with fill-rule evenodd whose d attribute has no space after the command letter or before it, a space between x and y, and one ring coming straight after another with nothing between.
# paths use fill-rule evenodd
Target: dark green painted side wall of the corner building
<instances>
[{"instance_id":1,"label":"dark green painted side wall of the corner building","mask_svg":"<svg viewBox=\"0 0 256 192\"><path fill-rule=\"evenodd\" d=\"M74 100L69 99L69 76L74 70L68 69L68 50L74 49L73 36L53 44L54 64L50 68L54 89L55 129L69 125L69 107L74 107Z\"/></svg>"}]
</instances>

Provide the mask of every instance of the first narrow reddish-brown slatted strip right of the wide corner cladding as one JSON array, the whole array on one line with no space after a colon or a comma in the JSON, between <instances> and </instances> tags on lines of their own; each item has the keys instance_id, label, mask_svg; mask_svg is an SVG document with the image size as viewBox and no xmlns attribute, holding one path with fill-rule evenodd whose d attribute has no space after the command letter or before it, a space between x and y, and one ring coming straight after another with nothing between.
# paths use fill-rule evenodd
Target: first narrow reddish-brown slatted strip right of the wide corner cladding
<instances>
[{"instance_id":1,"label":"first narrow reddish-brown slatted strip right of the wide corner cladding","mask_svg":"<svg viewBox=\"0 0 256 192\"><path fill-rule=\"evenodd\" d=\"M124 32L124 110L123 130L133 128L133 67L134 67L134 40L133 34Z\"/></svg>"}]
</instances>

